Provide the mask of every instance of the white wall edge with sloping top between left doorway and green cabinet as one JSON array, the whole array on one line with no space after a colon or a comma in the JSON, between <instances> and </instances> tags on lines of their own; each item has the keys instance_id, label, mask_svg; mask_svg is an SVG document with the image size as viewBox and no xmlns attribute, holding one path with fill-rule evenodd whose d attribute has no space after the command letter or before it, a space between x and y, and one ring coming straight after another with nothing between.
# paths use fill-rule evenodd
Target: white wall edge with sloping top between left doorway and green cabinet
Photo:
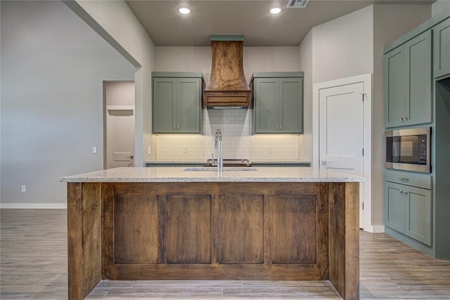
<instances>
[{"instance_id":1,"label":"white wall edge with sloping top between left doorway and green cabinet","mask_svg":"<svg viewBox=\"0 0 450 300\"><path fill-rule=\"evenodd\" d=\"M151 137L151 78L155 69L155 44L125 1L65 1L89 26L136 66L135 84L135 163L152 159L146 149Z\"/></svg>"}]
</instances>

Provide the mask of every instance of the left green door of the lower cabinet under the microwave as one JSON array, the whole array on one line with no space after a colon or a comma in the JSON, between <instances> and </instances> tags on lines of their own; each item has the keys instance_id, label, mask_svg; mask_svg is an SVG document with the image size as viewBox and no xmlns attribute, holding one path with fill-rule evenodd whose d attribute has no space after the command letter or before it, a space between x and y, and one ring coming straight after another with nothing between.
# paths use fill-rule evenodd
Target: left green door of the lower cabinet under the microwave
<instances>
[{"instance_id":1,"label":"left green door of the lower cabinet under the microwave","mask_svg":"<svg viewBox=\"0 0 450 300\"><path fill-rule=\"evenodd\" d=\"M385 226L405 232L404 185L385 182Z\"/></svg>"}]
</instances>

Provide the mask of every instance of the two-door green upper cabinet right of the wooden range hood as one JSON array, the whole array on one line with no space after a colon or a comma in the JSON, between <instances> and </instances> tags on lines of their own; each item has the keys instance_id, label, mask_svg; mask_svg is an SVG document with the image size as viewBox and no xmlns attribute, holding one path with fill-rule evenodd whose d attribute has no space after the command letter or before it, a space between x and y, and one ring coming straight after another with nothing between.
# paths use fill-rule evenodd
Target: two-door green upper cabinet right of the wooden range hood
<instances>
[{"instance_id":1,"label":"two-door green upper cabinet right of the wooden range hood","mask_svg":"<svg viewBox=\"0 0 450 300\"><path fill-rule=\"evenodd\" d=\"M302 133L303 77L303 72L253 74L255 133Z\"/></svg>"}]
</instances>

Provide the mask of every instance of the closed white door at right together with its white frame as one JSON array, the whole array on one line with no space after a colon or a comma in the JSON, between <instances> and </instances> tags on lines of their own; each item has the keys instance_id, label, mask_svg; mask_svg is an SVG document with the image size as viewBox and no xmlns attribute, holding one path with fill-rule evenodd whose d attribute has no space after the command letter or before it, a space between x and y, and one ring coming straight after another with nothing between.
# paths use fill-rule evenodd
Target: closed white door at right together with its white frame
<instances>
[{"instance_id":1,"label":"closed white door at right together with its white frame","mask_svg":"<svg viewBox=\"0 0 450 300\"><path fill-rule=\"evenodd\" d=\"M366 177L359 227L371 231L372 75L314 84L313 167Z\"/></svg>"}]
</instances>

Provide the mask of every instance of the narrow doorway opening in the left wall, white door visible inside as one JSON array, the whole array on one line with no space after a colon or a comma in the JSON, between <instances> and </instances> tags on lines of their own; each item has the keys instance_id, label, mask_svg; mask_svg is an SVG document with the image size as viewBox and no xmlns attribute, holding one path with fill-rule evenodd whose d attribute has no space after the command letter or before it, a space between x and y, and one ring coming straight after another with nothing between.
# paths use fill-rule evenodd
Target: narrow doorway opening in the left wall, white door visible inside
<instances>
[{"instance_id":1,"label":"narrow doorway opening in the left wall, white door visible inside","mask_svg":"<svg viewBox=\"0 0 450 300\"><path fill-rule=\"evenodd\" d=\"M105 169L134 167L134 82L103 81Z\"/></svg>"}]
</instances>

